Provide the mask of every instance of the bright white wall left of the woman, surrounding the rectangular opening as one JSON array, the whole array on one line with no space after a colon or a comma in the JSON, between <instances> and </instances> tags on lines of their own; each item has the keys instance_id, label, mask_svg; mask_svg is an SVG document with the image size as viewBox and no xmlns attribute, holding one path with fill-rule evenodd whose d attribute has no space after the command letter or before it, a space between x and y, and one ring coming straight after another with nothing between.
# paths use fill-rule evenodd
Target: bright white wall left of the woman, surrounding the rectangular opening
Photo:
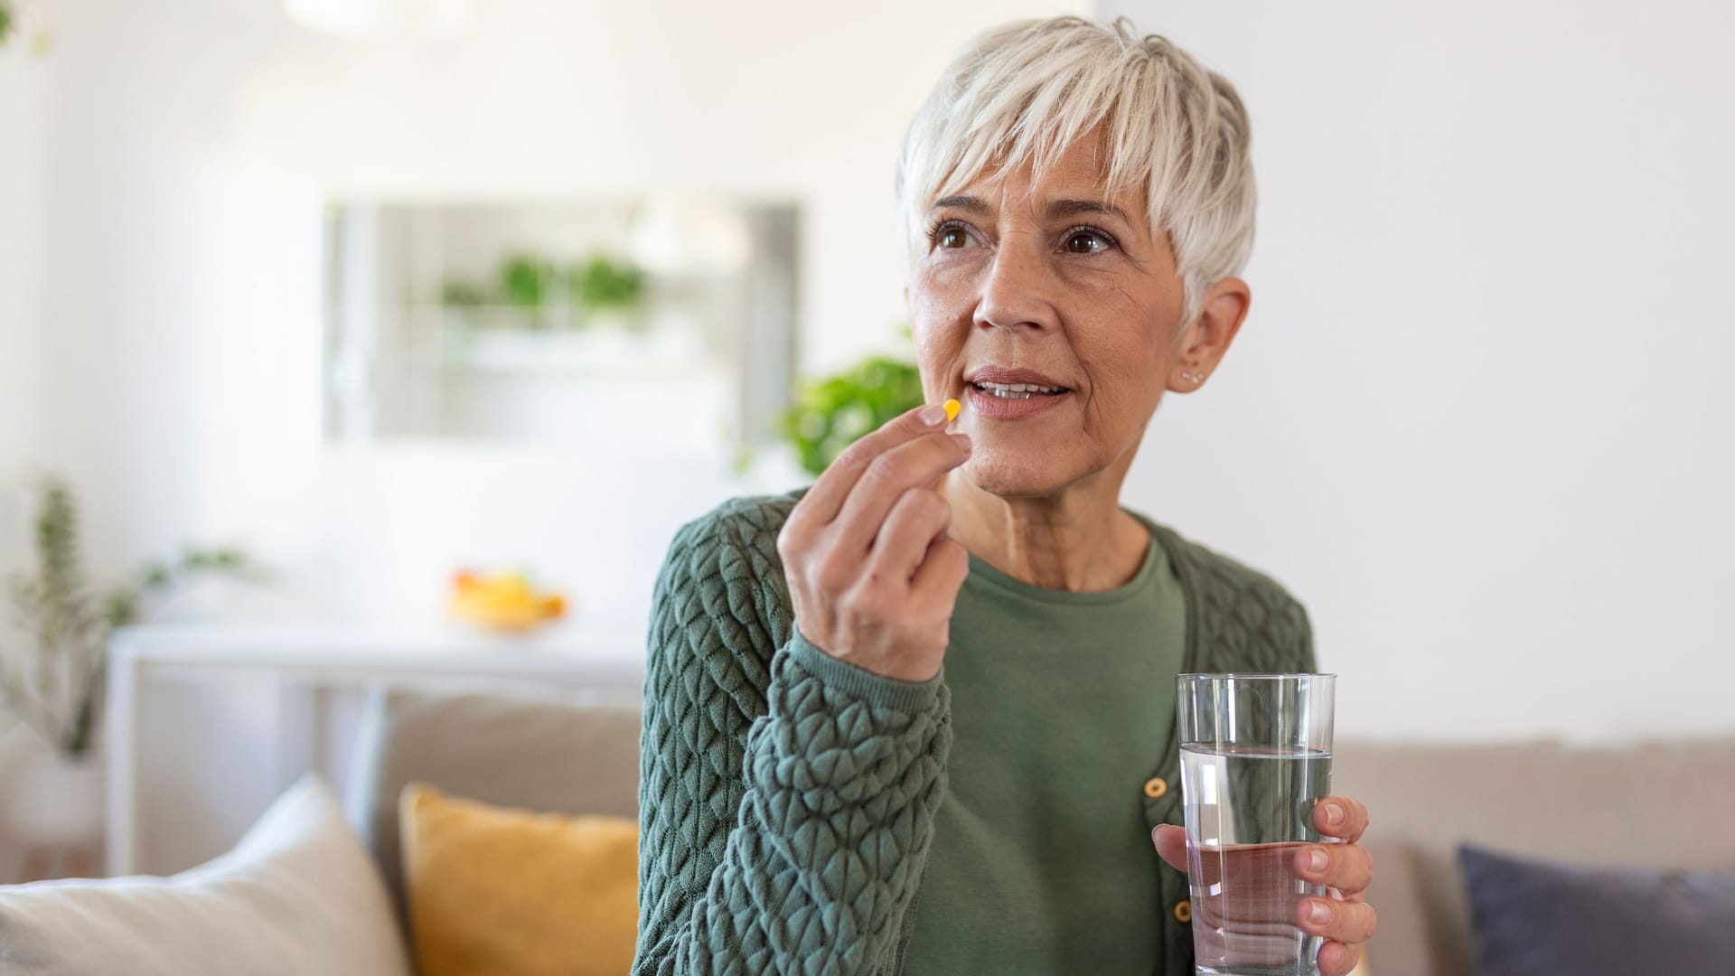
<instances>
[{"instance_id":1,"label":"bright white wall left of the woman, surrounding the rectangular opening","mask_svg":"<svg viewBox=\"0 0 1735 976\"><path fill-rule=\"evenodd\" d=\"M411 618L458 563L526 561L642 634L675 526L753 485L723 458L324 452L321 201L795 198L800 356L836 366L895 339L892 174L933 75L968 33L1065 3L475 7L449 43L331 38L274 0L42 10L35 457L83 491L97 570L227 540L285 587L220 592L226 615ZM0 129L0 156L17 144Z\"/></svg>"}]
</instances>

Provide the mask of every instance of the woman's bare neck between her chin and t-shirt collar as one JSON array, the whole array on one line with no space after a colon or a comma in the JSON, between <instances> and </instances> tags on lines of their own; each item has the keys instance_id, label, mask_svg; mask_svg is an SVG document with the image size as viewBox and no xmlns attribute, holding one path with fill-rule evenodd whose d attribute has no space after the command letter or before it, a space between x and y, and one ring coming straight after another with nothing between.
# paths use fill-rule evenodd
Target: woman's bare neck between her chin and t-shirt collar
<instances>
[{"instance_id":1,"label":"woman's bare neck between her chin and t-shirt collar","mask_svg":"<svg viewBox=\"0 0 1735 976\"><path fill-rule=\"evenodd\" d=\"M942 491L953 505L947 535L1008 577L1069 592L1124 585L1145 561L1150 531L1121 511L1124 465L1076 481L1053 495L1006 498L951 472Z\"/></svg>"}]
</instances>

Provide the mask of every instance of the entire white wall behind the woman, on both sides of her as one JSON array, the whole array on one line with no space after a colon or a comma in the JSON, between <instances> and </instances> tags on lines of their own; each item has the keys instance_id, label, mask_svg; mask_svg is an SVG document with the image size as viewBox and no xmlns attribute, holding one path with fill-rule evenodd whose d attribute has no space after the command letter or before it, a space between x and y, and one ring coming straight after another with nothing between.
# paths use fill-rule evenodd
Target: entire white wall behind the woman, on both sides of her
<instances>
[{"instance_id":1,"label":"entire white wall behind the woman, on both sides of her","mask_svg":"<svg viewBox=\"0 0 1735 976\"><path fill-rule=\"evenodd\" d=\"M1735 78L1712 50L1735 14L1107 7L1237 82L1263 193L1242 344L1166 405L1129 504L1306 599L1343 735L1735 731L1714 603L1735 403L1712 380L1735 354L1714 293ZM286 578L222 613L406 618L460 559L527 559L637 630L673 526L743 483L323 452L319 201L795 195L802 361L833 366L902 316L909 113L968 33L1053 7L479 9L429 50L305 33L267 0L64 0L33 80L0 59L0 177L26 174L0 195L0 257L23 257L0 260L0 474L73 474L94 568L234 540ZM0 491L3 568L21 498Z\"/></svg>"}]
</instances>

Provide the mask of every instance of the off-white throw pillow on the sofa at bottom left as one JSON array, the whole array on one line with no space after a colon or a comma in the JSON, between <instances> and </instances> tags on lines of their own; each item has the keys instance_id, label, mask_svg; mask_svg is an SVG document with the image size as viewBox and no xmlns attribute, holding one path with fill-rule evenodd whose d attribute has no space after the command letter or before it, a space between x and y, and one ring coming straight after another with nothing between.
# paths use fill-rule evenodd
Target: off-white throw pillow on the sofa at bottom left
<instances>
[{"instance_id":1,"label":"off-white throw pillow on the sofa at bottom left","mask_svg":"<svg viewBox=\"0 0 1735 976\"><path fill-rule=\"evenodd\" d=\"M378 870L307 775L174 877L0 887L0 976L409 976Z\"/></svg>"}]
</instances>

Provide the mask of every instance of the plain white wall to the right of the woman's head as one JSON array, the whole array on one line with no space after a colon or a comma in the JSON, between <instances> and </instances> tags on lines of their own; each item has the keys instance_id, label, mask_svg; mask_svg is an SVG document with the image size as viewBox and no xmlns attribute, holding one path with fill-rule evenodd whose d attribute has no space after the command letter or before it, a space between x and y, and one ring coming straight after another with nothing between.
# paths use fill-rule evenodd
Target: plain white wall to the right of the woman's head
<instances>
[{"instance_id":1,"label":"plain white wall to the right of the woman's head","mask_svg":"<svg viewBox=\"0 0 1735 976\"><path fill-rule=\"evenodd\" d=\"M1261 191L1129 502L1308 603L1341 735L1735 731L1735 9L1102 7L1237 85Z\"/></svg>"}]
</instances>

